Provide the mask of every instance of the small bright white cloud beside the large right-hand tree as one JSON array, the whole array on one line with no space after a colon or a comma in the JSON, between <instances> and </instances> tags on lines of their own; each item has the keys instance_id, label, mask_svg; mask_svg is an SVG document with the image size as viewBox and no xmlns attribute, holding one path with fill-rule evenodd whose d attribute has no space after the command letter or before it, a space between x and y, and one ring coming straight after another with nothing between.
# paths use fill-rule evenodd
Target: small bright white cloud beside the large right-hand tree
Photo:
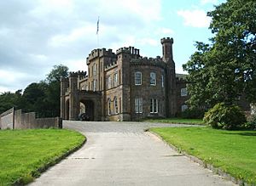
<instances>
[{"instance_id":1,"label":"small bright white cloud beside the large right-hand tree","mask_svg":"<svg viewBox=\"0 0 256 186\"><path fill-rule=\"evenodd\" d=\"M208 27L211 18L207 17L207 13L201 9L179 10L177 14L183 17L183 25L197 28Z\"/></svg>"}]
</instances>

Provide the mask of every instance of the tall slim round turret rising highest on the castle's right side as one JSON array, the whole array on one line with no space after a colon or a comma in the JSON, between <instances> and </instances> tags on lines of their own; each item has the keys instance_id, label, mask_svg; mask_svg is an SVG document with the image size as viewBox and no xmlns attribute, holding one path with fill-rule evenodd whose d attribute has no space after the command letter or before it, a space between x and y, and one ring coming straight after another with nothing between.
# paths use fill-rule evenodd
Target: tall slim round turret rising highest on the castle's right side
<instances>
[{"instance_id":1,"label":"tall slim round turret rising highest on the castle's right side","mask_svg":"<svg viewBox=\"0 0 256 186\"><path fill-rule=\"evenodd\" d=\"M164 37L161 39L163 57L162 60L166 62L166 116L174 116L177 112L176 100L176 75L175 63L173 61L172 44L173 39Z\"/></svg>"}]
</instances>

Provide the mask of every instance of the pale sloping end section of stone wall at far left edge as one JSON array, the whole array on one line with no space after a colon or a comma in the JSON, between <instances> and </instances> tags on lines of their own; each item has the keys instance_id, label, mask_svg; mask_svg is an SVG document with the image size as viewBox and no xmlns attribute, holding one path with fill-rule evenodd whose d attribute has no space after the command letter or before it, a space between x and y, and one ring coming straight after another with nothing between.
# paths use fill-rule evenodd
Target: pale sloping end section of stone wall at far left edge
<instances>
[{"instance_id":1,"label":"pale sloping end section of stone wall at far left edge","mask_svg":"<svg viewBox=\"0 0 256 186\"><path fill-rule=\"evenodd\" d=\"M14 127L14 108L3 112L0 115L0 129L13 129Z\"/></svg>"}]
</instances>

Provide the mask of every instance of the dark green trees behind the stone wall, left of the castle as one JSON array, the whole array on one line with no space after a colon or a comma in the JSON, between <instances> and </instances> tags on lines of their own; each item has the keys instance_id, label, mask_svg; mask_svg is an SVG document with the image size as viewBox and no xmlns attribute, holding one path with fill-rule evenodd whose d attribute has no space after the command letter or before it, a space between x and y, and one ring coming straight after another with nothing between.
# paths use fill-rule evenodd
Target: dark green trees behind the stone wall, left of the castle
<instances>
[{"instance_id":1,"label":"dark green trees behind the stone wall, left of the castle","mask_svg":"<svg viewBox=\"0 0 256 186\"><path fill-rule=\"evenodd\" d=\"M67 66L55 65L44 81L32 82L23 94L0 94L0 114L12 107L25 112L36 112L39 117L60 116L61 76L67 77Z\"/></svg>"}]
</instances>

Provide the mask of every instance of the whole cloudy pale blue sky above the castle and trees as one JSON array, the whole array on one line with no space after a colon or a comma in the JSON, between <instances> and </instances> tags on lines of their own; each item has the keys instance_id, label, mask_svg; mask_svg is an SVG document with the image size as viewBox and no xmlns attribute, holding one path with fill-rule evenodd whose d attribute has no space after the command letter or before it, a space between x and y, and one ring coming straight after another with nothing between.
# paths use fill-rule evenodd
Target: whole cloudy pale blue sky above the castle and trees
<instances>
[{"instance_id":1,"label":"whole cloudy pale blue sky above the castle and trees","mask_svg":"<svg viewBox=\"0 0 256 186\"><path fill-rule=\"evenodd\" d=\"M95 48L133 46L161 56L160 39L173 37L176 73L208 42L207 12L225 0L8 0L0 1L0 93L44 80L54 65L87 70ZM96 35L97 20L99 31Z\"/></svg>"}]
</instances>

